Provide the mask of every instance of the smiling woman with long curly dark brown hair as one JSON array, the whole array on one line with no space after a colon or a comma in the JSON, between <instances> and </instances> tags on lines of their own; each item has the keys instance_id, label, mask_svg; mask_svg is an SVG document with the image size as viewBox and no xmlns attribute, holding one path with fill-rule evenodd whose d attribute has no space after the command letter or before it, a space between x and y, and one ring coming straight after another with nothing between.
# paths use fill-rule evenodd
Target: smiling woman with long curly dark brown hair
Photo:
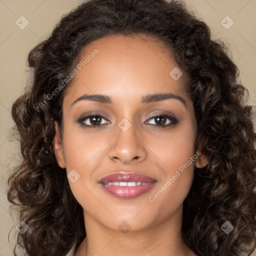
<instances>
[{"instance_id":1,"label":"smiling woman with long curly dark brown hair","mask_svg":"<svg viewBox=\"0 0 256 256\"><path fill-rule=\"evenodd\" d=\"M28 63L7 194L28 255L250 255L251 107L183 3L89 0Z\"/></svg>"}]
</instances>

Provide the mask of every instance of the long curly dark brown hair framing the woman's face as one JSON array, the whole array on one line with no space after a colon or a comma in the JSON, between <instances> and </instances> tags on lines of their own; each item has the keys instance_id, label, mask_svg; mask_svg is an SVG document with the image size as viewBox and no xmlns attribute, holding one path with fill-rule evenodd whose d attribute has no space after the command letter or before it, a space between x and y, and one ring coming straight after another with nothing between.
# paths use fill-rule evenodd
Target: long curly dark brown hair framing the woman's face
<instances>
[{"instance_id":1,"label":"long curly dark brown hair framing the woman's face","mask_svg":"<svg viewBox=\"0 0 256 256\"><path fill-rule=\"evenodd\" d=\"M88 43L111 34L144 33L170 49L190 77L187 91L197 123L195 148L208 164L194 169L183 202L182 236L198 255L250 255L256 246L256 134L247 89L221 40L182 1L89 0L62 16L51 35L28 54L32 85L12 105L22 161L8 178L8 200L29 229L16 246L27 255L65 255L86 236L81 205L53 152L54 121L61 125L65 86ZM63 83L62 83L63 84ZM50 94L52 95L52 94ZM221 225L234 229L227 235Z\"/></svg>"}]
</instances>

